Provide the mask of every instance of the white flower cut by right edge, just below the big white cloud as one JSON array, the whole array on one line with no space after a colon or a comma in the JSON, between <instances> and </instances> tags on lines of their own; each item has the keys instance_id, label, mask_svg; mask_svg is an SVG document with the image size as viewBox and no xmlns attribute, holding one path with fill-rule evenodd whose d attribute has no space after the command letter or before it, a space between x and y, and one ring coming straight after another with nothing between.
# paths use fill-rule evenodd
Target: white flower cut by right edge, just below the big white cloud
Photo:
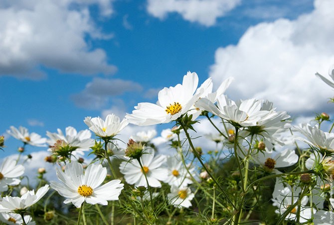
<instances>
[{"instance_id":1,"label":"white flower cut by right edge, just below the big white cloud","mask_svg":"<svg viewBox=\"0 0 334 225\"><path fill-rule=\"evenodd\" d=\"M334 152L334 133L327 133L318 128L312 127L310 124L300 124L294 127L297 131L303 134L307 139L295 136L295 139L300 140L310 146L329 150Z\"/></svg>"}]
</instances>

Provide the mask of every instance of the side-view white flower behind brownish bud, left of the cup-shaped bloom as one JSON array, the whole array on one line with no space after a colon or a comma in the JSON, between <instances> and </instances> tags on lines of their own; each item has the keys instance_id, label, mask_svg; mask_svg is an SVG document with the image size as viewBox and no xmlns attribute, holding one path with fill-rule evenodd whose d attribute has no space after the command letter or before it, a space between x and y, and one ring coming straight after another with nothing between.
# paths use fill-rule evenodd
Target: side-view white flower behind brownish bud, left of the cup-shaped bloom
<instances>
[{"instance_id":1,"label":"side-view white flower behind brownish bud, left of the cup-shaped bloom","mask_svg":"<svg viewBox=\"0 0 334 225\"><path fill-rule=\"evenodd\" d=\"M67 127L65 129L65 135L62 133L60 129L57 129L58 133L50 133L46 132L46 135L50 138L47 140L49 146L55 146L55 144L59 141L61 142L61 146L70 146L75 148L75 151L72 154L80 154L83 155L83 151L88 151L92 146L94 146L94 140L91 139L91 132L89 130L82 130L77 132L77 130L73 127Z\"/></svg>"}]
</instances>

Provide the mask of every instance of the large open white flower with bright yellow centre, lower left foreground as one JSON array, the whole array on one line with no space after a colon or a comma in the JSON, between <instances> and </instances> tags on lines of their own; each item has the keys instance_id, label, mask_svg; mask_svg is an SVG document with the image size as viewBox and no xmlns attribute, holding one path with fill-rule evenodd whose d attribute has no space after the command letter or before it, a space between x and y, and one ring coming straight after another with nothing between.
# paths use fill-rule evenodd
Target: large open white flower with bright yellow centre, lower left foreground
<instances>
[{"instance_id":1,"label":"large open white flower with bright yellow centre, lower left foreground","mask_svg":"<svg viewBox=\"0 0 334 225\"><path fill-rule=\"evenodd\" d=\"M83 202L107 205L107 201L118 200L124 186L120 180L112 180L101 186L107 169L100 164L90 164L84 173L82 164L72 161L66 165L64 172L59 168L56 168L56 172L61 183L51 181L51 188L67 198L65 204L73 203L77 208Z\"/></svg>"}]
</instances>

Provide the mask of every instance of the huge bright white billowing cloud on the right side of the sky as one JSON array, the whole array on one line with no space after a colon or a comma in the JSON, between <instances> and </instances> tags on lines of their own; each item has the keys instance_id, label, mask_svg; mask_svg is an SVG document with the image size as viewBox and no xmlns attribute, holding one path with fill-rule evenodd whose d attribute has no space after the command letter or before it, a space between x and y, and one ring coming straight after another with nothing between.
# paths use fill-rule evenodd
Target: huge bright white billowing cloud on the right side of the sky
<instances>
[{"instance_id":1,"label":"huge bright white billowing cloud on the right side of the sky","mask_svg":"<svg viewBox=\"0 0 334 225\"><path fill-rule=\"evenodd\" d=\"M334 64L333 0L315 0L314 10L295 20L277 19L250 27L237 45L216 50L210 67L216 85L235 80L227 93L234 99L269 99L279 110L333 113L333 90L315 76Z\"/></svg>"}]
</instances>

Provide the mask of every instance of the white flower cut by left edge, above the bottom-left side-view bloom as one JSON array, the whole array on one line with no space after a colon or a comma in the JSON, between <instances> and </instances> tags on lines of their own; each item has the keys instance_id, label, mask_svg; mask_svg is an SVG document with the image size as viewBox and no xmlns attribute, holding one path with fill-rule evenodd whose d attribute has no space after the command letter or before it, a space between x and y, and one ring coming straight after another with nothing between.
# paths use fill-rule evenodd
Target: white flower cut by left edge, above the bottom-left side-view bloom
<instances>
[{"instance_id":1,"label":"white flower cut by left edge, above the bottom-left side-view bloom","mask_svg":"<svg viewBox=\"0 0 334 225\"><path fill-rule=\"evenodd\" d=\"M16 165L16 161L5 158L0 165L0 192L8 190L8 185L15 186L20 183L19 177L24 173L22 165Z\"/></svg>"}]
</instances>

